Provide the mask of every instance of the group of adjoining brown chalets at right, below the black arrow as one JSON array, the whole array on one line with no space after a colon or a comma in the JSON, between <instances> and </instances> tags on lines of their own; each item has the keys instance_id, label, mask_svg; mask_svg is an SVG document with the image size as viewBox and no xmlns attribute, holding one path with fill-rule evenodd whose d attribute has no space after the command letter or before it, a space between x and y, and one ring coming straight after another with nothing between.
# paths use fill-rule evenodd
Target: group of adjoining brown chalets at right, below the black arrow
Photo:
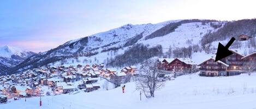
<instances>
[{"instance_id":1,"label":"group of adjoining brown chalets at right, below the black arrow","mask_svg":"<svg viewBox=\"0 0 256 109\"><path fill-rule=\"evenodd\" d=\"M252 72L256 70L256 52L243 56L234 50L232 55L215 62L210 58L200 63L201 76L230 76L239 75L241 73Z\"/></svg>"}]
</instances>

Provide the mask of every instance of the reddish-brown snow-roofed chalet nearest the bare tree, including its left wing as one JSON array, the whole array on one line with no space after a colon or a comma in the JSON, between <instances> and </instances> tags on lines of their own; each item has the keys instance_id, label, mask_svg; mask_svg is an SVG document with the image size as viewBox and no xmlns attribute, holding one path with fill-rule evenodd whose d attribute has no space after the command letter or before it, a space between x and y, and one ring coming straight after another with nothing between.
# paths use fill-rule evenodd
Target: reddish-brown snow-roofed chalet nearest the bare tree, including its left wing
<instances>
[{"instance_id":1,"label":"reddish-brown snow-roofed chalet nearest the bare tree, including its left wing","mask_svg":"<svg viewBox=\"0 0 256 109\"><path fill-rule=\"evenodd\" d=\"M188 72L195 63L188 58L158 59L158 68L175 72Z\"/></svg>"}]
</instances>

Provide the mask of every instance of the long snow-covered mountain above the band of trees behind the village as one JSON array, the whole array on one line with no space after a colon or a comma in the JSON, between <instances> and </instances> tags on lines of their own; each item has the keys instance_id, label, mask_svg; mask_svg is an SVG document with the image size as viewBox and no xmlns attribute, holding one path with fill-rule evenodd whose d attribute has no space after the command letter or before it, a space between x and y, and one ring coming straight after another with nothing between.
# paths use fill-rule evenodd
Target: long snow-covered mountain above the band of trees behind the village
<instances>
[{"instance_id":1,"label":"long snow-covered mountain above the band of trees behind the village","mask_svg":"<svg viewBox=\"0 0 256 109\"><path fill-rule=\"evenodd\" d=\"M251 21L254 22L255 20ZM246 29L247 23L252 24L251 21L243 20L242 23L239 23L240 25L236 24L240 21L216 20L174 20L157 24L126 24L109 31L68 41L47 52L33 55L8 70L7 73L13 74L45 65L74 62L108 63L110 59L114 59L116 55L124 54L126 50L138 43L144 44L148 48L160 45L163 53L168 52L170 47L182 48L193 45L198 45L203 50L213 49L217 48L217 44L212 43L228 41L229 37L238 36L237 34L248 34L254 37L256 34L249 30L256 27L247 27L245 33L242 32L243 29ZM236 27L233 28L235 32L232 27ZM225 30L227 32L223 32ZM205 40L206 36L209 40ZM204 43L202 44L201 41Z\"/></svg>"}]
</instances>

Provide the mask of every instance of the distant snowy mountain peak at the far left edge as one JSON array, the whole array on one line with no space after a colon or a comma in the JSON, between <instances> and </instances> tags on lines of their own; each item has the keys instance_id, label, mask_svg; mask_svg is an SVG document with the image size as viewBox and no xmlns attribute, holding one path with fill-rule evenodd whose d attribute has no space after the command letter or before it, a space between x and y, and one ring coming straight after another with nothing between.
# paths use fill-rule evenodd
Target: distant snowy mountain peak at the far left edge
<instances>
[{"instance_id":1,"label":"distant snowy mountain peak at the far left edge","mask_svg":"<svg viewBox=\"0 0 256 109\"><path fill-rule=\"evenodd\" d=\"M3 46L0 47L0 72L10 67L18 65L23 60L35 53L23 50L17 47Z\"/></svg>"}]
</instances>

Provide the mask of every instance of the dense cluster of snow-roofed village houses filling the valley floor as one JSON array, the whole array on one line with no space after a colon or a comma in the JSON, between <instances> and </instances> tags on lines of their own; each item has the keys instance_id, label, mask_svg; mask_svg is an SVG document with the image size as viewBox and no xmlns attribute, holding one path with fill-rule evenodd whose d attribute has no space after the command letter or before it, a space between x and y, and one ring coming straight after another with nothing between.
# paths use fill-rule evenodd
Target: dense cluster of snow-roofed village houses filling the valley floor
<instances>
[{"instance_id":1,"label":"dense cluster of snow-roofed village houses filling the valley floor","mask_svg":"<svg viewBox=\"0 0 256 109\"><path fill-rule=\"evenodd\" d=\"M99 80L110 81L114 77L122 79L128 74L134 75L135 71L135 66L117 71L114 68L105 68L103 64L35 68L21 74L0 76L0 95L2 99L56 95L79 89L91 92L100 88L102 83Z\"/></svg>"}]
</instances>

